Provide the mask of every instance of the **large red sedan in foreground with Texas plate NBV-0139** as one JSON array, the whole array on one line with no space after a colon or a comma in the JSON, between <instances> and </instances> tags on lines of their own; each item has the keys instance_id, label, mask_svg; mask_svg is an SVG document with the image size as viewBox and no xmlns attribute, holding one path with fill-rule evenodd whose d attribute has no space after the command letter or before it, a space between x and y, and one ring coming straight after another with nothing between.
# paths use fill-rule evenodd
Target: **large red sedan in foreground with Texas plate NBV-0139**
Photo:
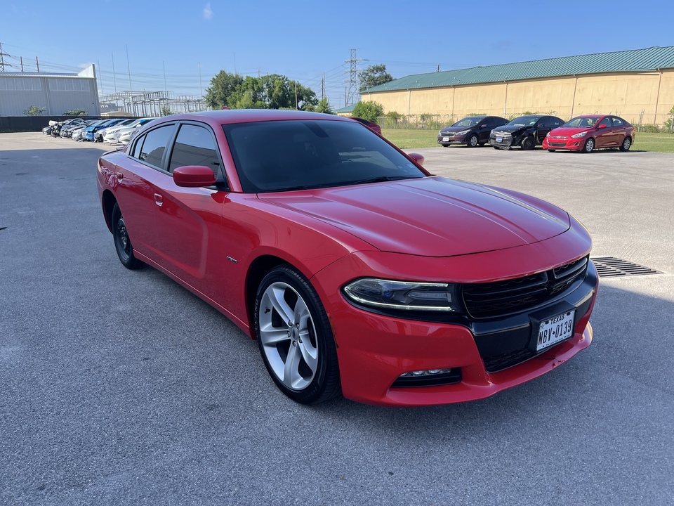
<instances>
[{"instance_id":1,"label":"large red sedan in foreground with Texas plate NBV-0139","mask_svg":"<svg viewBox=\"0 0 674 506\"><path fill-rule=\"evenodd\" d=\"M212 111L105 153L98 191L121 263L231 318L300 403L470 401L589 346L581 223L421 160L351 119Z\"/></svg>"}]
</instances>

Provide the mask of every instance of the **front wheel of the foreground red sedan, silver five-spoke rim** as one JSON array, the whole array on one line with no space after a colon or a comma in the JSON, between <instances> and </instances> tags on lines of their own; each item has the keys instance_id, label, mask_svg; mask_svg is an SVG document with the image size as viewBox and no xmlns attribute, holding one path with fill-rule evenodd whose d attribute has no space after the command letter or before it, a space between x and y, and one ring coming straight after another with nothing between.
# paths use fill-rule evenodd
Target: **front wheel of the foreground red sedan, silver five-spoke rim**
<instances>
[{"instance_id":1,"label":"front wheel of the foreground red sedan, silver five-spoke rim","mask_svg":"<svg viewBox=\"0 0 674 506\"><path fill-rule=\"evenodd\" d=\"M293 267L278 266L260 283L255 334L267 372L293 401L316 404L341 394L328 316L314 287Z\"/></svg>"}]
</instances>

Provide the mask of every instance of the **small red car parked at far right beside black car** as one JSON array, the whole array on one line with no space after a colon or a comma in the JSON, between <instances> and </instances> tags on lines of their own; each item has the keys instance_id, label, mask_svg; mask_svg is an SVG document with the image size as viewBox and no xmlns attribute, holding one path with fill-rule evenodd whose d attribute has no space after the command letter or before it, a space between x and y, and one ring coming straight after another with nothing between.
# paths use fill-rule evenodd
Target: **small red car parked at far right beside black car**
<instances>
[{"instance_id":1,"label":"small red car parked at far right beside black car","mask_svg":"<svg viewBox=\"0 0 674 506\"><path fill-rule=\"evenodd\" d=\"M543 141L543 149L585 153L600 148L620 148L621 151L629 151L634 143L635 134L634 126L618 116L578 116L560 128L550 131Z\"/></svg>"}]
</instances>

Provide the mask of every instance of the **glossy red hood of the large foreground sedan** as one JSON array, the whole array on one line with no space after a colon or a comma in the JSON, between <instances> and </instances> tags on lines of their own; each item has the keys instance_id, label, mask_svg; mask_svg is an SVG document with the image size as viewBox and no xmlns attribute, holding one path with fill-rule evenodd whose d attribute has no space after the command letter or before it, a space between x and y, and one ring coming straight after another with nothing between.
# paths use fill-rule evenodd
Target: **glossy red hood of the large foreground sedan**
<instances>
[{"instance_id":1,"label":"glossy red hood of the large foreground sedan","mask_svg":"<svg viewBox=\"0 0 674 506\"><path fill-rule=\"evenodd\" d=\"M512 248L569 229L562 209L505 191L438 176L259 198L330 223L381 251L424 257Z\"/></svg>"}]
</instances>

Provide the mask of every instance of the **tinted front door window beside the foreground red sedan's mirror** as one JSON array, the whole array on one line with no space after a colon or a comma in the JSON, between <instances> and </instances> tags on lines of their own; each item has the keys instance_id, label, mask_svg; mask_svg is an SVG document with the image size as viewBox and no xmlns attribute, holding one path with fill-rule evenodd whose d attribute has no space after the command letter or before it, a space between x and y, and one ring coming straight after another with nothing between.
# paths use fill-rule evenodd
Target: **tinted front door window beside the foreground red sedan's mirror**
<instances>
[{"instance_id":1,"label":"tinted front door window beside the foreground red sedan's mirror","mask_svg":"<svg viewBox=\"0 0 674 506\"><path fill-rule=\"evenodd\" d=\"M180 126L176 143L173 145L169 172L185 165L204 165L209 167L216 177L220 174L220 159L216 151L211 131L202 126L184 124Z\"/></svg>"}]
</instances>

